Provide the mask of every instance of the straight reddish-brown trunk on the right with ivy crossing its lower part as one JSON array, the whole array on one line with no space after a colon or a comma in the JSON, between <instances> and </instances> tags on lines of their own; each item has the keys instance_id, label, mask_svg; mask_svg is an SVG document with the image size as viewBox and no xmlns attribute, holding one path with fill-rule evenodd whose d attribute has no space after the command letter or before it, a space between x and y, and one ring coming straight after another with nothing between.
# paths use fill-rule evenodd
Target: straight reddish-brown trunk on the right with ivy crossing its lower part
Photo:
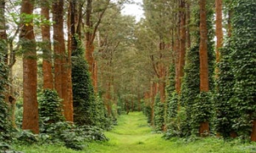
<instances>
[{"instance_id":1,"label":"straight reddish-brown trunk on the right with ivy crossing its lower part","mask_svg":"<svg viewBox=\"0 0 256 153\"><path fill-rule=\"evenodd\" d=\"M209 91L207 55L207 1L200 0L200 91ZM209 132L209 122L201 122L200 134Z\"/></svg>"}]
</instances>

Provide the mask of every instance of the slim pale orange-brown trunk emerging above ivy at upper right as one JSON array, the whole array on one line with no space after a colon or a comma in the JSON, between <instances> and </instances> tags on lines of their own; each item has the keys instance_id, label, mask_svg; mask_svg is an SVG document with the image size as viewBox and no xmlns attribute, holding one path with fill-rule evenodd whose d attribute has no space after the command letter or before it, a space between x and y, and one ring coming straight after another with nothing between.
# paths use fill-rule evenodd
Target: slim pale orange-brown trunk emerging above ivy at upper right
<instances>
[{"instance_id":1,"label":"slim pale orange-brown trunk emerging above ivy at upper right","mask_svg":"<svg viewBox=\"0 0 256 153\"><path fill-rule=\"evenodd\" d=\"M223 30L222 30L222 0L215 0L216 8L216 62L219 62L219 48L223 46Z\"/></svg>"}]
</instances>

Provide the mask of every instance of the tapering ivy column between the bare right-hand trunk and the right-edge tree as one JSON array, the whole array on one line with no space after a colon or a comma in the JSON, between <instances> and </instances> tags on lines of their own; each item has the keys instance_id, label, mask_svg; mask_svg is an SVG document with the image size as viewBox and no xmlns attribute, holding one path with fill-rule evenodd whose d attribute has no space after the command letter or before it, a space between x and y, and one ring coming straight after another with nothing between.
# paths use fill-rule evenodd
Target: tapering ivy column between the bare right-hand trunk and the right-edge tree
<instances>
[{"instance_id":1,"label":"tapering ivy column between the bare right-hand trunk and the right-edge tree","mask_svg":"<svg viewBox=\"0 0 256 153\"><path fill-rule=\"evenodd\" d=\"M230 53L232 52L230 42L220 50L221 58L218 62L218 78L216 79L216 91L214 97L215 117L214 127L218 134L224 139L230 138L230 133L234 133L232 127L234 119L237 117L235 105L232 105L234 96L234 74L230 65Z\"/></svg>"}]
</instances>

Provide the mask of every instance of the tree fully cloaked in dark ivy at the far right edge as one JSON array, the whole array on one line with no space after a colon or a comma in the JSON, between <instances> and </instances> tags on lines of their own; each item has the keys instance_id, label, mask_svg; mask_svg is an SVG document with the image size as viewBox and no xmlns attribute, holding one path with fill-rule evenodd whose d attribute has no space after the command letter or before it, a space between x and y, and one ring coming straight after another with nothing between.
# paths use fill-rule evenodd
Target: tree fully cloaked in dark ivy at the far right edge
<instances>
[{"instance_id":1,"label":"tree fully cloaked in dark ivy at the far right edge","mask_svg":"<svg viewBox=\"0 0 256 153\"><path fill-rule=\"evenodd\" d=\"M231 59L236 82L233 105L240 115L234 126L244 139L251 133L251 140L256 141L256 3L251 0L234 3Z\"/></svg>"}]
</instances>

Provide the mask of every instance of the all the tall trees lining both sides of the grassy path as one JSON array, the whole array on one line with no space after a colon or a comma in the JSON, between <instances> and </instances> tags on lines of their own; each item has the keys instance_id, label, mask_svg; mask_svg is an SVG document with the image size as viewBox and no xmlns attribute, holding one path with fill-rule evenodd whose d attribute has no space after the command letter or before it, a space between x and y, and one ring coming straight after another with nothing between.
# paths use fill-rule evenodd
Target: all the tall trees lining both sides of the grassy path
<instances>
[{"instance_id":1,"label":"all the tall trees lining both sides of the grassy path","mask_svg":"<svg viewBox=\"0 0 256 153\"><path fill-rule=\"evenodd\" d=\"M23 129L39 132L43 87L56 90L65 120L79 125L106 128L119 112L144 106L166 136L252 133L254 140L255 3L143 0L137 23L120 13L123 3L1 1L0 101L3 112L13 108L13 126L12 68L21 54ZM15 9L19 15L9 13Z\"/></svg>"}]
</instances>

